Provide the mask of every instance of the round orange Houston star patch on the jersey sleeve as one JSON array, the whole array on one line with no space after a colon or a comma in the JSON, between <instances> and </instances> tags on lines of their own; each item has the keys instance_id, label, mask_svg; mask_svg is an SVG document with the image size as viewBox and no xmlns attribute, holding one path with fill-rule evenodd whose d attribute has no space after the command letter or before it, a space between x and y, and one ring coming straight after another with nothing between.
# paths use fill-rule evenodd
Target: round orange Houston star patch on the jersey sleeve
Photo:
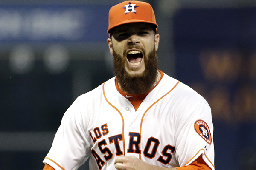
<instances>
[{"instance_id":1,"label":"round orange Houston star patch on the jersey sleeve","mask_svg":"<svg viewBox=\"0 0 256 170\"><path fill-rule=\"evenodd\" d=\"M208 143L212 144L212 135L206 122L203 120L195 121L195 131Z\"/></svg>"}]
</instances>

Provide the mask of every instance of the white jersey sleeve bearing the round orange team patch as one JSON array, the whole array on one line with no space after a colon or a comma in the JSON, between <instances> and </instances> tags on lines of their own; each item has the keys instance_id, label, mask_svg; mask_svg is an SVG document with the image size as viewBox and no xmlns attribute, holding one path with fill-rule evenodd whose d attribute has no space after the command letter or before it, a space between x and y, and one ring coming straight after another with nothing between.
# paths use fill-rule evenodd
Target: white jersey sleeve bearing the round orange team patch
<instances>
[{"instance_id":1,"label":"white jersey sleeve bearing the round orange team patch","mask_svg":"<svg viewBox=\"0 0 256 170\"><path fill-rule=\"evenodd\" d=\"M214 170L213 124L208 103L191 106L177 123L176 159L180 167L191 164L200 155Z\"/></svg>"}]
</instances>

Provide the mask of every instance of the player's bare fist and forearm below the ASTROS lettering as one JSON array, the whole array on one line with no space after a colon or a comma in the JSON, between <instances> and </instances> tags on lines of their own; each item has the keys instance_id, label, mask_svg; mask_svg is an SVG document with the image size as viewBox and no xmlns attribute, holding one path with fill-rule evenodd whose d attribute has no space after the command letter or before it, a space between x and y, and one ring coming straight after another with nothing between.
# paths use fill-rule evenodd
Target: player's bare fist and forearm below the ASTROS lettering
<instances>
[{"instance_id":1,"label":"player's bare fist and forearm below the ASTROS lettering","mask_svg":"<svg viewBox=\"0 0 256 170\"><path fill-rule=\"evenodd\" d=\"M114 164L117 170L177 170L157 167L148 164L135 156L118 156Z\"/></svg>"}]
</instances>

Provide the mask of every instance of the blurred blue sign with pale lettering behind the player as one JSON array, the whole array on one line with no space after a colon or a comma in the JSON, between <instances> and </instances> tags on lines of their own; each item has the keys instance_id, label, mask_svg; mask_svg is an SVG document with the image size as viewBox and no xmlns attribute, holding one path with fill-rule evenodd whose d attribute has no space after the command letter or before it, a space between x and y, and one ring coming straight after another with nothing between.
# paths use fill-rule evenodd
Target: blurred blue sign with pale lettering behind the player
<instances>
[{"instance_id":1,"label":"blurred blue sign with pale lettering behind the player","mask_svg":"<svg viewBox=\"0 0 256 170\"><path fill-rule=\"evenodd\" d=\"M106 42L106 5L1 5L0 42Z\"/></svg>"}]
</instances>

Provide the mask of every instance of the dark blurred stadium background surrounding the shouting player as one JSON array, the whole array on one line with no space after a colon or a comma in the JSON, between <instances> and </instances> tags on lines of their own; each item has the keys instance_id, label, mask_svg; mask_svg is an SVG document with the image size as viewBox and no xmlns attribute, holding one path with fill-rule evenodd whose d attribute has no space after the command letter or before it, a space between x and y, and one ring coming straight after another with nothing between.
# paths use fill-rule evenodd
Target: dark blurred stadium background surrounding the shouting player
<instances>
[{"instance_id":1,"label":"dark blurred stadium background surrounding the shouting player","mask_svg":"<svg viewBox=\"0 0 256 170\"><path fill-rule=\"evenodd\" d=\"M113 77L106 30L120 2L0 0L0 170L41 170L66 109ZM256 1L147 2L160 70L212 108L216 170L256 170Z\"/></svg>"}]
</instances>

